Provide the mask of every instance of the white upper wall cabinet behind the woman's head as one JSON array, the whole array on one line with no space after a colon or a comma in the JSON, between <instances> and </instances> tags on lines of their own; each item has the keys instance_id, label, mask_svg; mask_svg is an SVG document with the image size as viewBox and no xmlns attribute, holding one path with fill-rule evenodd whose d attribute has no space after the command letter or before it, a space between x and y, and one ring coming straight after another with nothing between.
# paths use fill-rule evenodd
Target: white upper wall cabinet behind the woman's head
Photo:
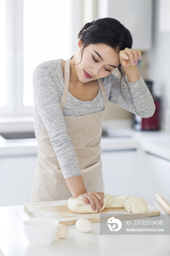
<instances>
[{"instance_id":1,"label":"white upper wall cabinet behind the woman's head","mask_svg":"<svg viewBox=\"0 0 170 256\"><path fill-rule=\"evenodd\" d=\"M134 49L151 49L152 12L152 0L98 1L98 18L111 17L119 20L130 30Z\"/></svg>"}]
</instances>

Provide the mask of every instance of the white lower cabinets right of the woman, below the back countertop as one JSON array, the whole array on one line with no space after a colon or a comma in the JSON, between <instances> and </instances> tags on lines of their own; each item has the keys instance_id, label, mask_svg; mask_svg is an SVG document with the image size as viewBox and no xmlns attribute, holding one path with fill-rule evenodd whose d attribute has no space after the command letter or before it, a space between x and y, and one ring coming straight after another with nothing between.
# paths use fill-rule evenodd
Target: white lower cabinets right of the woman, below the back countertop
<instances>
[{"instance_id":1,"label":"white lower cabinets right of the woman, below the back countertop","mask_svg":"<svg viewBox=\"0 0 170 256\"><path fill-rule=\"evenodd\" d=\"M133 196L169 193L170 161L138 150L103 151L105 193Z\"/></svg>"}]
</instances>

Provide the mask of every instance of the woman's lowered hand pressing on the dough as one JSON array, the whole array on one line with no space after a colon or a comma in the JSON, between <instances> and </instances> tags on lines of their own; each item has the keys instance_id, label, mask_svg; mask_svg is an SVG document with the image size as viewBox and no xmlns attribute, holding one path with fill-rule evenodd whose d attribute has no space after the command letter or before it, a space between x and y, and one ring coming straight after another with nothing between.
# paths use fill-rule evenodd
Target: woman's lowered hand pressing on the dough
<instances>
[{"instance_id":1,"label":"woman's lowered hand pressing on the dough","mask_svg":"<svg viewBox=\"0 0 170 256\"><path fill-rule=\"evenodd\" d=\"M78 195L76 198L81 199L83 202L86 204L90 204L92 207L93 211L99 211L101 208L103 208L103 198L104 198L104 193L103 192L83 192L82 194Z\"/></svg>"}]
</instances>

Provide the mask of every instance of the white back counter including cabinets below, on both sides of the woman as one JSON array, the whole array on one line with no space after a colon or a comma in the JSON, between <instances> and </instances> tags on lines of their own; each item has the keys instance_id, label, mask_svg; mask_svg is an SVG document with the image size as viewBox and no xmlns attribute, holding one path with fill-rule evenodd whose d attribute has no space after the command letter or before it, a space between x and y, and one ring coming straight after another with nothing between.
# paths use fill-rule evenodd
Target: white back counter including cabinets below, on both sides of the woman
<instances>
[{"instance_id":1,"label":"white back counter including cabinets below, on both sides of the woman","mask_svg":"<svg viewBox=\"0 0 170 256\"><path fill-rule=\"evenodd\" d=\"M100 144L106 193L169 193L170 135L137 132L129 121L104 121L103 128L110 136ZM30 202L37 154L36 139L5 140L0 136L0 206ZM115 178L118 182L113 187Z\"/></svg>"}]
</instances>

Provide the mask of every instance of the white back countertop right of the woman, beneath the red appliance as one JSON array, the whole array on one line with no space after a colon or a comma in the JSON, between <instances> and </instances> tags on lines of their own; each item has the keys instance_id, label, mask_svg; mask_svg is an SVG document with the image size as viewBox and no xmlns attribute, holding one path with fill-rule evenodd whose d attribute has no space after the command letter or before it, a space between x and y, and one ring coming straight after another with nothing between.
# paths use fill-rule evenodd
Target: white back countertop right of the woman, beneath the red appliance
<instances>
[{"instance_id":1,"label":"white back countertop right of the woman, beneath the red appliance","mask_svg":"<svg viewBox=\"0 0 170 256\"><path fill-rule=\"evenodd\" d=\"M170 161L170 133L164 131L135 131L131 126L115 125L114 121L104 121L103 127L111 129L116 136L113 138L102 138L102 150L126 150L141 148L142 150L157 155ZM124 127L124 128L122 128ZM122 135L122 137L121 137Z\"/></svg>"}]
</instances>

